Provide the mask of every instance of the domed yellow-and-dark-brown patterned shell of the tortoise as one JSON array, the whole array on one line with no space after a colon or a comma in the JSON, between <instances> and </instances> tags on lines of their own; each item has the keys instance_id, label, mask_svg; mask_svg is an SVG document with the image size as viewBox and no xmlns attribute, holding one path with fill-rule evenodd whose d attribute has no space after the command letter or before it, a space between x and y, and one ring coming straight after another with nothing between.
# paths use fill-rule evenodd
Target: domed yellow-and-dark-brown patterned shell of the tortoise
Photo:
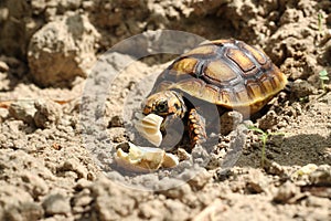
<instances>
[{"instance_id":1,"label":"domed yellow-and-dark-brown patterned shell of the tortoise","mask_svg":"<svg viewBox=\"0 0 331 221\"><path fill-rule=\"evenodd\" d=\"M252 115L286 84L263 51L237 40L215 40L180 55L159 75L151 94L175 90Z\"/></svg>"}]
</instances>

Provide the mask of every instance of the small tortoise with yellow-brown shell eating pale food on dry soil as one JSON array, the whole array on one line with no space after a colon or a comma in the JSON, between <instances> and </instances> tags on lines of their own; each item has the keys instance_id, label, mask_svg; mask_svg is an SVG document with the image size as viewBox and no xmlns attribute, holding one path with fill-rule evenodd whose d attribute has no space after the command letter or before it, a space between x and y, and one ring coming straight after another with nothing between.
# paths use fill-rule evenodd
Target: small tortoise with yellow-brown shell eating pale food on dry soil
<instances>
[{"instance_id":1,"label":"small tortoise with yellow-brown shell eating pale food on dry soil","mask_svg":"<svg viewBox=\"0 0 331 221\"><path fill-rule=\"evenodd\" d=\"M162 117L162 135L168 119L181 119L193 148L206 140L206 116L192 98L249 117L286 85L286 75L263 51L234 39L214 40L180 55L158 76L142 114Z\"/></svg>"}]
</instances>

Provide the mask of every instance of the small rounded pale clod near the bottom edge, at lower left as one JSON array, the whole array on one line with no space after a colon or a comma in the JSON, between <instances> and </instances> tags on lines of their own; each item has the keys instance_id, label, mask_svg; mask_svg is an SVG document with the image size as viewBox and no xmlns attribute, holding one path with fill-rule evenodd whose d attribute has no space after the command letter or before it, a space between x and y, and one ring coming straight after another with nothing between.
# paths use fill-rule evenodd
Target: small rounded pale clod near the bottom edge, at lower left
<instances>
[{"instance_id":1,"label":"small rounded pale clod near the bottom edge, at lower left","mask_svg":"<svg viewBox=\"0 0 331 221\"><path fill-rule=\"evenodd\" d=\"M70 199L62 194L51 194L42 203L46 215L67 214L71 212Z\"/></svg>"}]
</instances>

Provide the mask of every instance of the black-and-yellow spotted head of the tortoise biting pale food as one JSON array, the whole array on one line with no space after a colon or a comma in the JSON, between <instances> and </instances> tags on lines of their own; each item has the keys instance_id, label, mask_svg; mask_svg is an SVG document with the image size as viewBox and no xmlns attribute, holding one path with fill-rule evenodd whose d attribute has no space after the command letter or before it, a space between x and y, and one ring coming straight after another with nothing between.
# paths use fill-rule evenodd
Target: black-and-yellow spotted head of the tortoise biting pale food
<instances>
[{"instance_id":1,"label":"black-and-yellow spotted head of the tortoise biting pale food","mask_svg":"<svg viewBox=\"0 0 331 221\"><path fill-rule=\"evenodd\" d=\"M147 97L142 104L142 114L156 114L163 118L168 116L183 118L186 112L182 96L174 91L162 91Z\"/></svg>"}]
</instances>

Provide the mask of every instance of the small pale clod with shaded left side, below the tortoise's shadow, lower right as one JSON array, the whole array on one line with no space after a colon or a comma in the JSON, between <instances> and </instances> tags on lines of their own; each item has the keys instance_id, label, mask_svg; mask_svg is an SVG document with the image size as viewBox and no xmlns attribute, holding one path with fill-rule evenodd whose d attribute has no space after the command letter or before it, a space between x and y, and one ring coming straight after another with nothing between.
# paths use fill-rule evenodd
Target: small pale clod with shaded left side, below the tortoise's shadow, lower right
<instances>
[{"instance_id":1,"label":"small pale clod with shaded left side, below the tortoise's shadow, lower right","mask_svg":"<svg viewBox=\"0 0 331 221\"><path fill-rule=\"evenodd\" d=\"M278 192L274 196L274 201L277 203L287 203L299 192L300 189L295 183L287 181L279 187Z\"/></svg>"}]
</instances>

